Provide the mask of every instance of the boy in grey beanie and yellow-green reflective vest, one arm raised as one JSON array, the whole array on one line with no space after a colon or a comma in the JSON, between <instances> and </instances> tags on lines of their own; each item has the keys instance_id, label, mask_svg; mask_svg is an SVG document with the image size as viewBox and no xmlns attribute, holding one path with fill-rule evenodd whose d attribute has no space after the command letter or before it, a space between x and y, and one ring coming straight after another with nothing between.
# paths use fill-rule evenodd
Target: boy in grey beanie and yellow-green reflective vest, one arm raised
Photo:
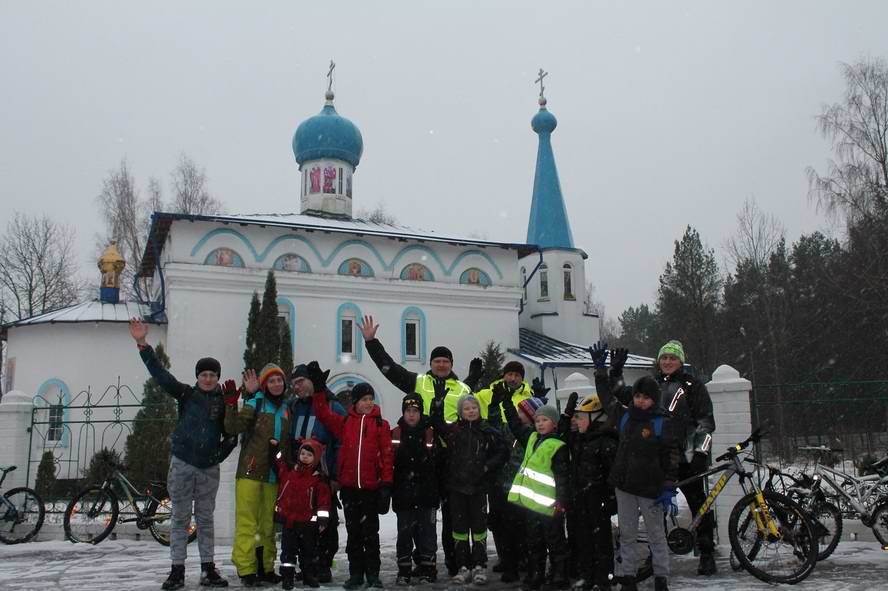
<instances>
[{"instance_id":1,"label":"boy in grey beanie and yellow-green reflective vest, one arm raised","mask_svg":"<svg viewBox=\"0 0 888 591\"><path fill-rule=\"evenodd\" d=\"M491 405L499 405L509 395L504 384L493 390ZM522 401L525 405L528 401ZM512 488L509 502L527 511L527 577L531 589L540 589L546 578L546 555L552 564L551 579L556 589L566 589L567 541L564 539L564 508L569 489L568 450L558 437L558 413L540 406L534 413L534 426L518 418L513 404L503 404L509 429L525 448L524 461Z\"/></svg>"}]
</instances>

